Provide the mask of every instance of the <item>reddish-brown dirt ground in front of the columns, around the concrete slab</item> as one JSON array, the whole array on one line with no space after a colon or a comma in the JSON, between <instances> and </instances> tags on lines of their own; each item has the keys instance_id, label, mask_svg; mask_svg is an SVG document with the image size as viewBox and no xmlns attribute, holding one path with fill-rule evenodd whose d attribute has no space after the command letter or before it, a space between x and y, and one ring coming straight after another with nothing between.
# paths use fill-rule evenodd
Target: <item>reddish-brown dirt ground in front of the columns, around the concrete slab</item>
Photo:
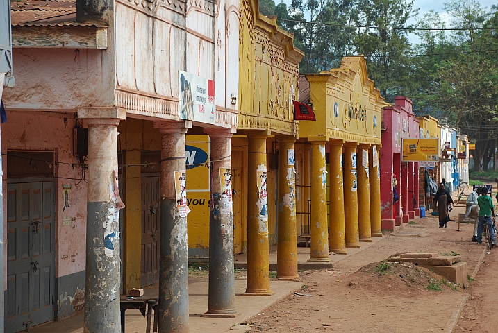
<instances>
[{"instance_id":1,"label":"reddish-brown dirt ground in front of the columns, around the concrete slab","mask_svg":"<svg viewBox=\"0 0 498 333\"><path fill-rule=\"evenodd\" d=\"M454 332L497 332L493 296L485 296L484 291L492 291L488 277L498 278L498 271L492 269L497 267L498 248L485 257L470 289L431 278L410 265L392 266L385 272L379 271L383 267L379 264L360 269L400 252L456 253L472 275L485 248L470 241L473 225L460 225L460 231L456 223L448 225L439 229L433 217L416 219L337 262L334 271L304 272L302 295L294 294L258 314L250 321L253 332L451 332L455 324ZM458 318L462 307L464 318ZM485 318L488 322L482 323Z\"/></svg>"}]
</instances>

